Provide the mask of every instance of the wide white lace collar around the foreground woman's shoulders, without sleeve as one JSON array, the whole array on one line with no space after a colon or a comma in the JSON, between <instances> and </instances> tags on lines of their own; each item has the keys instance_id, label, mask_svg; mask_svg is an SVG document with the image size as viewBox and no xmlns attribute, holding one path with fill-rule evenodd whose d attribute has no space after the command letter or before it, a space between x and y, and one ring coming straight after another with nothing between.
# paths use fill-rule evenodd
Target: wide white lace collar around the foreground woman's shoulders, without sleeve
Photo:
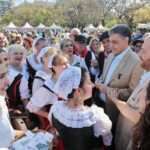
<instances>
[{"instance_id":1,"label":"wide white lace collar around the foreground woman's shoulders, without sleeve","mask_svg":"<svg viewBox=\"0 0 150 150\"><path fill-rule=\"evenodd\" d=\"M51 113L67 127L83 128L92 126L96 123L94 114L90 109L85 107L71 109L66 106L65 102L56 102L51 108Z\"/></svg>"}]
</instances>

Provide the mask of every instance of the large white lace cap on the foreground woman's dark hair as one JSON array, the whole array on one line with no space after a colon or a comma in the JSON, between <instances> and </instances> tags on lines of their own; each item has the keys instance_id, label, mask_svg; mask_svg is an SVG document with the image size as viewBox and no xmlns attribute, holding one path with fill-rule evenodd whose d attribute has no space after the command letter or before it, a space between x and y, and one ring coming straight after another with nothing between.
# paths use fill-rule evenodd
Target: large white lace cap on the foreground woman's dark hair
<instances>
[{"instance_id":1,"label":"large white lace cap on the foreground woman's dark hair","mask_svg":"<svg viewBox=\"0 0 150 150\"><path fill-rule=\"evenodd\" d=\"M81 81L81 68L70 66L60 75L54 92L61 98L67 100L73 89L78 89Z\"/></svg>"}]
</instances>

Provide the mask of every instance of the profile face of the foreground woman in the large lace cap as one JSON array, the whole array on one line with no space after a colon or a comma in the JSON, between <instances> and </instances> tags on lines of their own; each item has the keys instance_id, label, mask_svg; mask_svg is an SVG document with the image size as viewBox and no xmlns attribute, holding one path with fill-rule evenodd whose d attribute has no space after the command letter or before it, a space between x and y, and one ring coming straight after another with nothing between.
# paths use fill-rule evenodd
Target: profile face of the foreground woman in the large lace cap
<instances>
[{"instance_id":1,"label":"profile face of the foreground woman in the large lace cap","mask_svg":"<svg viewBox=\"0 0 150 150\"><path fill-rule=\"evenodd\" d=\"M93 83L91 82L90 75L88 73L86 73L83 87L81 89L83 100L87 100L92 97Z\"/></svg>"}]
</instances>

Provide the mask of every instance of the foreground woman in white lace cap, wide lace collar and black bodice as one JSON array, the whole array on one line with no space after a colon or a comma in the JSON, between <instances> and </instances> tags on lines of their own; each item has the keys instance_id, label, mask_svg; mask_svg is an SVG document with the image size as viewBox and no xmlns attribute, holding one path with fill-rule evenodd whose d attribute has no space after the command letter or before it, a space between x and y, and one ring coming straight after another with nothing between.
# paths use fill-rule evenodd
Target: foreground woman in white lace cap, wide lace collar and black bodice
<instances>
[{"instance_id":1,"label":"foreground woman in white lace cap, wide lace collar and black bodice","mask_svg":"<svg viewBox=\"0 0 150 150\"><path fill-rule=\"evenodd\" d=\"M111 121L103 109L85 106L92 96L93 84L85 69L69 67L58 79L54 91L64 101L56 102L49 120L57 129L65 150L93 150L99 136L105 145L111 144ZM97 138L96 138L97 137Z\"/></svg>"}]
</instances>

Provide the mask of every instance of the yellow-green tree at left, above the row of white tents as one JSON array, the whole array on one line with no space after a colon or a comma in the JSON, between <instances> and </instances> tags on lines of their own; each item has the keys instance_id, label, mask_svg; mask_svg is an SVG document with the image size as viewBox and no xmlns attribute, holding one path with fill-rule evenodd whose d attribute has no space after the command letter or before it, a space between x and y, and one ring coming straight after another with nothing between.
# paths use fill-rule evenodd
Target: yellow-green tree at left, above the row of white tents
<instances>
[{"instance_id":1,"label":"yellow-green tree at left, above the row of white tents","mask_svg":"<svg viewBox=\"0 0 150 150\"><path fill-rule=\"evenodd\" d=\"M18 26L25 24L25 22L29 22L34 26L39 23L50 26L54 22L64 25L65 17L59 7L54 8L50 5L23 4L8 11L2 17L1 24L6 25L11 21Z\"/></svg>"}]
</instances>

